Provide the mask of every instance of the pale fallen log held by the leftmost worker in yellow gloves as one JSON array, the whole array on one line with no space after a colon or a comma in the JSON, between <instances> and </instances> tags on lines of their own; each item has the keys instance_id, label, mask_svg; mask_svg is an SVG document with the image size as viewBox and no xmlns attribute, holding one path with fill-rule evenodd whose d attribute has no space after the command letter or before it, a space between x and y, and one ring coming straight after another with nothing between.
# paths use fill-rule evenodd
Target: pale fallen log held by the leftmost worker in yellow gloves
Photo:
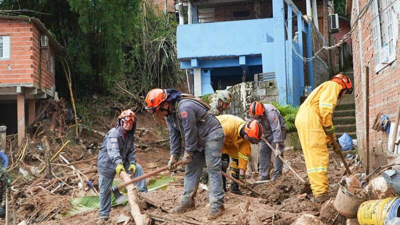
<instances>
[{"instance_id":1,"label":"pale fallen log held by the leftmost worker in yellow gloves","mask_svg":"<svg viewBox=\"0 0 400 225\"><path fill-rule=\"evenodd\" d=\"M123 179L124 182L130 181L130 175L124 171L121 171L119 176ZM126 186L128 192L128 202L130 205L130 214L133 216L134 223L136 225L147 225L150 224L151 220L146 214L140 213L140 207L137 204L136 200L136 191L133 190L133 184L129 184Z\"/></svg>"}]
</instances>

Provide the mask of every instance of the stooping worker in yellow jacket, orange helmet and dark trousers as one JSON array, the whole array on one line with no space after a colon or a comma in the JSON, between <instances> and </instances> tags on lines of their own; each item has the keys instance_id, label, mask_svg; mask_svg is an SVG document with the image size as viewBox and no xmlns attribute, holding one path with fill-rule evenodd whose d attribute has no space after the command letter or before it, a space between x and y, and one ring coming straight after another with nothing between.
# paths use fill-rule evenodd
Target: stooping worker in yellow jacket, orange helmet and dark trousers
<instances>
[{"instance_id":1,"label":"stooping worker in yellow jacket, orange helmet and dark trousers","mask_svg":"<svg viewBox=\"0 0 400 225\"><path fill-rule=\"evenodd\" d=\"M245 181L248 156L251 154L250 143L258 143L262 137L262 125L258 120L247 120L246 122L234 115L218 115L216 118L222 125L225 133L225 141L222 146L222 171L226 172L229 165L229 156L232 158L230 163L230 174L233 178ZM225 187L225 177L223 176L223 188ZM241 194L239 186L235 182L230 184L230 192Z\"/></svg>"}]
</instances>

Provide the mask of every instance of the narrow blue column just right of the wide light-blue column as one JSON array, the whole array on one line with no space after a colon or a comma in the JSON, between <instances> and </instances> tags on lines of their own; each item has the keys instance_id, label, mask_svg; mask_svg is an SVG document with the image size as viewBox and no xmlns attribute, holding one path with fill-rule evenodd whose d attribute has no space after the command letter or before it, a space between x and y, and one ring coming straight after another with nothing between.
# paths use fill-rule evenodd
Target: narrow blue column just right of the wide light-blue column
<instances>
[{"instance_id":1,"label":"narrow blue column just right of the wide light-blue column","mask_svg":"<svg viewBox=\"0 0 400 225\"><path fill-rule=\"evenodd\" d=\"M292 24L293 20L291 18L292 16L292 6L291 4L287 5L287 103L293 105L294 103L294 98L293 96L295 95L293 93L294 90L294 85L298 85L297 83L293 83L293 76L297 75L293 74L293 43L291 42L292 40Z\"/></svg>"}]
</instances>

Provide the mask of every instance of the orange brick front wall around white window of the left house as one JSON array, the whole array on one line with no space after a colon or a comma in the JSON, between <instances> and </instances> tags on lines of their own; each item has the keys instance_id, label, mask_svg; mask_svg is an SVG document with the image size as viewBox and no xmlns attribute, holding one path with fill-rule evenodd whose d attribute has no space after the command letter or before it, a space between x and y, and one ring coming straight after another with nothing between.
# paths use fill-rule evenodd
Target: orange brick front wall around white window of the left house
<instances>
[{"instance_id":1,"label":"orange brick front wall around white window of the left house","mask_svg":"<svg viewBox=\"0 0 400 225\"><path fill-rule=\"evenodd\" d=\"M0 35L10 36L10 58L0 60L0 83L32 83L32 24L0 19ZM10 65L10 68L8 68Z\"/></svg>"}]
</instances>

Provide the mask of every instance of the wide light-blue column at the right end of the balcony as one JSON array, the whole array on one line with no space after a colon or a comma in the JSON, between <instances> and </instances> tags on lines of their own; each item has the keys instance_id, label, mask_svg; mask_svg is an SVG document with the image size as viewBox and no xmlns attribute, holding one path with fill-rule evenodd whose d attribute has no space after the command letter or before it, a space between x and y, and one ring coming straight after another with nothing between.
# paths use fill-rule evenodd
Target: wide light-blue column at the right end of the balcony
<instances>
[{"instance_id":1,"label":"wide light-blue column at the right end of the balcony","mask_svg":"<svg viewBox=\"0 0 400 225\"><path fill-rule=\"evenodd\" d=\"M283 0L272 0L273 13L273 56L279 103L287 104L287 73L285 59L285 25Z\"/></svg>"}]
</instances>

